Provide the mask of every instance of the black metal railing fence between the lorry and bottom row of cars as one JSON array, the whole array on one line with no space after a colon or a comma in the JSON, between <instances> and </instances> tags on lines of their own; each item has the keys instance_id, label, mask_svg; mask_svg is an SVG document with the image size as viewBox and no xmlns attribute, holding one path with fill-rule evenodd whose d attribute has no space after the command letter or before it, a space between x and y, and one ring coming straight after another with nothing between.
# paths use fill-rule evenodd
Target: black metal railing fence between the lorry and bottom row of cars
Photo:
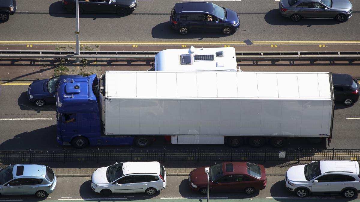
<instances>
[{"instance_id":1,"label":"black metal railing fence between the lorry and bottom row of cars","mask_svg":"<svg viewBox=\"0 0 360 202\"><path fill-rule=\"evenodd\" d=\"M360 160L360 150L345 149L97 149L0 151L2 164L107 161L280 161Z\"/></svg>"}]
</instances>

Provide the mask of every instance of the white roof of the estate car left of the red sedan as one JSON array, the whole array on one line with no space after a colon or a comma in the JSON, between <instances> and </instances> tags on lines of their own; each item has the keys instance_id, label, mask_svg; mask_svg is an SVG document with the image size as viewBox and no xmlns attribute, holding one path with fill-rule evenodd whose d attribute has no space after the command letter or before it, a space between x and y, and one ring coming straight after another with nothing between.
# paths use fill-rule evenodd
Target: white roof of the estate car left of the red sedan
<instances>
[{"instance_id":1,"label":"white roof of the estate car left of the red sedan","mask_svg":"<svg viewBox=\"0 0 360 202\"><path fill-rule=\"evenodd\" d=\"M124 175L135 173L160 174L160 163L157 161L129 161L123 162L122 173Z\"/></svg>"}]
</instances>

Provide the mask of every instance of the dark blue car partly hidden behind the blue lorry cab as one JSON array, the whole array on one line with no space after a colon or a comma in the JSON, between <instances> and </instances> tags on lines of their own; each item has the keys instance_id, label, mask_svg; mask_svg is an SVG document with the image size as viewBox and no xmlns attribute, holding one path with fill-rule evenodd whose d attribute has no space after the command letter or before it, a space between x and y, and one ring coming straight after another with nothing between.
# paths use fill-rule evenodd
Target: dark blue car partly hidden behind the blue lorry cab
<instances>
[{"instance_id":1,"label":"dark blue car partly hidden behind the blue lorry cab","mask_svg":"<svg viewBox=\"0 0 360 202\"><path fill-rule=\"evenodd\" d=\"M33 81L28 90L27 97L30 102L34 102L36 106L44 106L56 102L56 91L59 82L64 79L83 77L82 75L61 75L50 79L42 79Z\"/></svg>"}]
</instances>

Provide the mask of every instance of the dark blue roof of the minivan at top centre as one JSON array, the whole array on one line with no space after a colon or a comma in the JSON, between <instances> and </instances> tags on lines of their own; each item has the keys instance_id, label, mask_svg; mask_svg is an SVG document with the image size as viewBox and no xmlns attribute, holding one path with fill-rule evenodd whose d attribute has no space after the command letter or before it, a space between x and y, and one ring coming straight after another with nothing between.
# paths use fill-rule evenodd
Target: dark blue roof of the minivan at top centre
<instances>
[{"instance_id":1,"label":"dark blue roof of the minivan at top centre","mask_svg":"<svg viewBox=\"0 0 360 202\"><path fill-rule=\"evenodd\" d=\"M212 14L212 3L210 2L181 2L175 4L176 13L180 12L208 12Z\"/></svg>"}]
</instances>

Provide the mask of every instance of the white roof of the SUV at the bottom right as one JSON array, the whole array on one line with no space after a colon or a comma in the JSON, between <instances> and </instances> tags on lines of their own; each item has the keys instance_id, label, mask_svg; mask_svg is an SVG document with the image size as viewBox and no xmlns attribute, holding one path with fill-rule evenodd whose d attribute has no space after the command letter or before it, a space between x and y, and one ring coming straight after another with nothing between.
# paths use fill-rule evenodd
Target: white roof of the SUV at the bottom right
<instances>
[{"instance_id":1,"label":"white roof of the SUV at the bottom right","mask_svg":"<svg viewBox=\"0 0 360 202\"><path fill-rule=\"evenodd\" d=\"M327 160L320 161L321 173L356 173L359 174L359 163L356 161Z\"/></svg>"}]
</instances>

